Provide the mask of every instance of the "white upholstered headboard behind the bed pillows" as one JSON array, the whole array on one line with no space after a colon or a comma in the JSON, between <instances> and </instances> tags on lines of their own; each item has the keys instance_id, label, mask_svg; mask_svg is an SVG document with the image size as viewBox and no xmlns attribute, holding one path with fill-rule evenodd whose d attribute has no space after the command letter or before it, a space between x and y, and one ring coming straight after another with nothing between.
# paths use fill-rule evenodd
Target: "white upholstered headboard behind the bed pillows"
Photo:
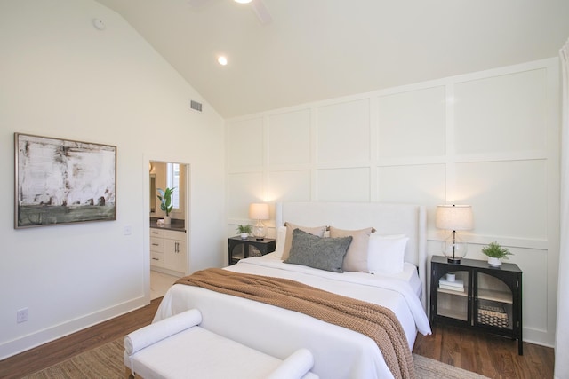
<instances>
[{"instance_id":1,"label":"white upholstered headboard behind the bed pillows","mask_svg":"<svg viewBox=\"0 0 569 379\"><path fill-rule=\"evenodd\" d=\"M419 268L423 307L426 306L427 280L427 216L425 207L379 202L278 202L276 226L291 222L297 225L333 225L341 229L363 229L373 226L377 233L405 234L409 237L405 261Z\"/></svg>"}]
</instances>

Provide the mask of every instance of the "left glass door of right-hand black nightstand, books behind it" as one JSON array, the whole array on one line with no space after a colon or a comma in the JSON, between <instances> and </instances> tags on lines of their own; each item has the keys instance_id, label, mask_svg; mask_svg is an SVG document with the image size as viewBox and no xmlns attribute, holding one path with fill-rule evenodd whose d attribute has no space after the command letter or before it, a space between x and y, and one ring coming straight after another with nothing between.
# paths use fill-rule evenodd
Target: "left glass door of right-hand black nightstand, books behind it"
<instances>
[{"instance_id":1,"label":"left glass door of right-hand black nightstand, books behind it","mask_svg":"<svg viewBox=\"0 0 569 379\"><path fill-rule=\"evenodd\" d=\"M469 272L447 272L438 280L437 315L469 321Z\"/></svg>"}]
</instances>

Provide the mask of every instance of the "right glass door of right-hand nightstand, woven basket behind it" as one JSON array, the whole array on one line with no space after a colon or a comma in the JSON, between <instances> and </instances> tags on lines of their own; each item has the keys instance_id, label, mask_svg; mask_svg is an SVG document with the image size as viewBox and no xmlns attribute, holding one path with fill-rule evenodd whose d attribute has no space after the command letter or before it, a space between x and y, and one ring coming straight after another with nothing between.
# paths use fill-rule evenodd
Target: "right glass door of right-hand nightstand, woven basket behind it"
<instances>
[{"instance_id":1,"label":"right glass door of right-hand nightstand, woven basket behind it","mask_svg":"<svg viewBox=\"0 0 569 379\"><path fill-rule=\"evenodd\" d=\"M475 324L512 329L513 294L508 285L495 276L477 272Z\"/></svg>"}]
</instances>

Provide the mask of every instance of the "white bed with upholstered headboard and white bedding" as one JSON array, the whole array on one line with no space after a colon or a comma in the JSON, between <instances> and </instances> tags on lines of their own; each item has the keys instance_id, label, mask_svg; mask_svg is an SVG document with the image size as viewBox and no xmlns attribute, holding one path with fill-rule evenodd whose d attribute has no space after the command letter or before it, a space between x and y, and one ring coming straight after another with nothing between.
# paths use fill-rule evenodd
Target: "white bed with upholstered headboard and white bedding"
<instances>
[{"instance_id":1,"label":"white bed with upholstered headboard and white bedding","mask_svg":"<svg viewBox=\"0 0 569 379\"><path fill-rule=\"evenodd\" d=\"M425 312L425 209L416 205L342 202L284 202L276 204L276 252L242 259L228 272L298 281L341 296L381 304L397 315L410 350L417 332L430 334ZM283 225L288 223L289 227ZM333 225L337 231L373 228L370 241L393 243L405 237L402 268L397 272L333 272L307 265L284 263L290 225ZM301 241L294 231L297 241ZM332 232L331 232L332 233ZM322 240L325 240L325 236ZM311 236L307 238L313 238ZM331 236L331 239L340 240ZM389 241L385 241L389 240ZM328 241L328 240L326 240ZM354 237L350 245L354 245ZM372 243L370 242L370 248ZM398 245L401 247L401 245ZM289 247L292 259L298 244ZM296 257L296 256L294 256ZM345 256L347 259L348 255ZM391 258L389 258L391 259ZM389 266L390 267L390 266ZM284 359L299 348L314 355L312 372L323 378L385 378L389 370L378 345L348 328L317 320L307 314L277 308L246 298L204 288L175 284L160 304L155 321L196 308L204 314L202 327L252 349ZM208 352L204 352L208 353ZM212 351L211 353L215 353Z\"/></svg>"}]
</instances>

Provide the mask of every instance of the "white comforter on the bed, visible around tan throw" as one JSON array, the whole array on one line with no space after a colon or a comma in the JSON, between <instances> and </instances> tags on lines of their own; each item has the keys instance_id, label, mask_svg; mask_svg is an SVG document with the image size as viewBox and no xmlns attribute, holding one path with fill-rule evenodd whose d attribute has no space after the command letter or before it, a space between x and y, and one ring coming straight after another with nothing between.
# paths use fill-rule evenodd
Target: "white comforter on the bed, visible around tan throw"
<instances>
[{"instance_id":1,"label":"white comforter on the bed, visible around tan throw","mask_svg":"<svg viewBox=\"0 0 569 379\"><path fill-rule=\"evenodd\" d=\"M413 349L417 330L423 335L431 333L421 301L405 280L360 272L324 272L284 264L270 255L241 260L227 270L297 280L386 306L396 313L410 349ZM381 351L367 336L302 313L204 288L172 286L156 312L155 321L192 308L203 314L201 327L277 358L284 359L302 347L309 349L315 359L312 372L321 378L392 377Z\"/></svg>"}]
</instances>

